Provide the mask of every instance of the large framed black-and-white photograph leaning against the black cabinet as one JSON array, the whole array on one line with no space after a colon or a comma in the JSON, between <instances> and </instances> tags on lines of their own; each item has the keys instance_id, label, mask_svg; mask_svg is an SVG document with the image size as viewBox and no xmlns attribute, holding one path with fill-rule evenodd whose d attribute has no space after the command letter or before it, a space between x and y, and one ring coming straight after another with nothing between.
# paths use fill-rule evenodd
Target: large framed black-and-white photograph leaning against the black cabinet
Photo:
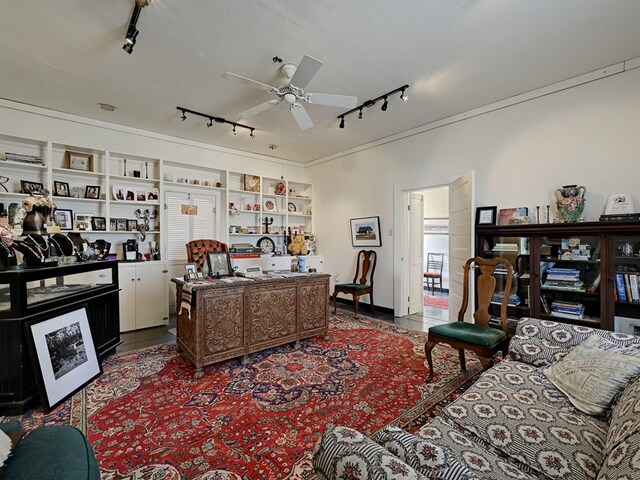
<instances>
[{"instance_id":1,"label":"large framed black-and-white photograph leaning against the black cabinet","mask_svg":"<svg viewBox=\"0 0 640 480\"><path fill-rule=\"evenodd\" d=\"M45 411L102 373L86 307L25 323L34 373Z\"/></svg>"}]
</instances>

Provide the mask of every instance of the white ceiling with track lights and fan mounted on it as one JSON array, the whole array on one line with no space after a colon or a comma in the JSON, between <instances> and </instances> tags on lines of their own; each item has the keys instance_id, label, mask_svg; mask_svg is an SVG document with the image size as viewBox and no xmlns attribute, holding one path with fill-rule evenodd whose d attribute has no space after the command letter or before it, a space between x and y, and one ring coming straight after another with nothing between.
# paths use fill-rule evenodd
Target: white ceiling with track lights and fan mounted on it
<instances>
[{"instance_id":1,"label":"white ceiling with track lights and fan mounted on it","mask_svg":"<svg viewBox=\"0 0 640 480\"><path fill-rule=\"evenodd\" d=\"M132 10L133 0L0 1L0 97L307 163L640 56L640 0L152 0L128 55ZM394 95L344 129L343 110L307 105L306 131L279 105L241 122L254 139L180 121L177 106L235 121L272 97L222 73L273 84L274 56L304 54L324 62L308 92L362 103L408 83L409 101Z\"/></svg>"}]
</instances>

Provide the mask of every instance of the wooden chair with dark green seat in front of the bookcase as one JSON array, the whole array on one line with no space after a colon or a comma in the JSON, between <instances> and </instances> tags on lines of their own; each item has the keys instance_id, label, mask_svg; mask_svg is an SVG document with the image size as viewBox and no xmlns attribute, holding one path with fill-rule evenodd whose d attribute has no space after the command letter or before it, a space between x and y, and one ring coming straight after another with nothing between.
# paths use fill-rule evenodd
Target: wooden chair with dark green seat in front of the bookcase
<instances>
[{"instance_id":1,"label":"wooden chair with dark green seat in front of the bookcase","mask_svg":"<svg viewBox=\"0 0 640 480\"><path fill-rule=\"evenodd\" d=\"M494 272L498 265L506 270L504 276L504 292L500 304L500 329L489 327L491 319L489 305L496 290L496 277ZM464 321L464 314L469 305L469 272L472 268L479 271L476 278L477 308L473 314L475 323ZM509 322L507 320L507 304L511 292L511 282L513 279L513 267L504 258L470 258L464 264L464 292L462 295L462 306L458 312L458 321L445 323L429 328L429 336L424 346L424 353L429 364L429 376L427 383L433 380L433 359L431 350L439 343L446 343L458 350L460 356L460 367L466 370L464 351L470 350L480 358L482 366L486 370L493 365L493 356L502 351L507 354L509 347Z\"/></svg>"}]
</instances>

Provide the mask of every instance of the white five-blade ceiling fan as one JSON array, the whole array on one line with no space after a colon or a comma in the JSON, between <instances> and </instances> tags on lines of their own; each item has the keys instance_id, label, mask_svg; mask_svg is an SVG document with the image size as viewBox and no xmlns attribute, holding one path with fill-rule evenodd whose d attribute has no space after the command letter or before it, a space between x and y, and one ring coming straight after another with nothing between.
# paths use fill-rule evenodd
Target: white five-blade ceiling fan
<instances>
[{"instance_id":1,"label":"white five-blade ceiling fan","mask_svg":"<svg viewBox=\"0 0 640 480\"><path fill-rule=\"evenodd\" d=\"M300 65L296 66L292 63L285 63L280 67L284 74L285 81L283 85L279 87L273 87L266 83L251 80L250 78L236 75L235 73L225 72L222 74L224 78L237 80L250 87L264 90L269 93L273 93L278 96L267 102L256 105L244 112L238 114L238 118L249 118L258 113L262 113L281 102L285 102L289 105L289 110L293 115L293 118L298 123L301 130L307 130L313 127L313 122L309 117L309 114L302 105L303 102L326 105L329 107L341 107L346 109L354 108L358 103L358 97L350 95L332 95L329 93L305 93L304 89L309 84L311 79L318 73L322 67L322 62L316 58L305 55L300 61Z\"/></svg>"}]
</instances>

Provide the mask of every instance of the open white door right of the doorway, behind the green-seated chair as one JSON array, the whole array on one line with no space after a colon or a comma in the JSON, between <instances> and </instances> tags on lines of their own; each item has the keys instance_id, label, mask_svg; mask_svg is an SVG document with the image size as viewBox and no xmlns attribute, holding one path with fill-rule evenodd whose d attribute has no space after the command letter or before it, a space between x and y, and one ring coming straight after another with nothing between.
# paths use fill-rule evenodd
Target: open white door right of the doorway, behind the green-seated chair
<instances>
[{"instance_id":1,"label":"open white door right of the doorway, behind the green-seated chair","mask_svg":"<svg viewBox=\"0 0 640 480\"><path fill-rule=\"evenodd\" d=\"M449 184L449 321L458 319L462 305L462 268L473 255L474 175L465 173ZM473 276L471 283L473 285ZM473 289L471 290L473 292ZM465 321L472 321L474 297L469 297Z\"/></svg>"}]
</instances>

